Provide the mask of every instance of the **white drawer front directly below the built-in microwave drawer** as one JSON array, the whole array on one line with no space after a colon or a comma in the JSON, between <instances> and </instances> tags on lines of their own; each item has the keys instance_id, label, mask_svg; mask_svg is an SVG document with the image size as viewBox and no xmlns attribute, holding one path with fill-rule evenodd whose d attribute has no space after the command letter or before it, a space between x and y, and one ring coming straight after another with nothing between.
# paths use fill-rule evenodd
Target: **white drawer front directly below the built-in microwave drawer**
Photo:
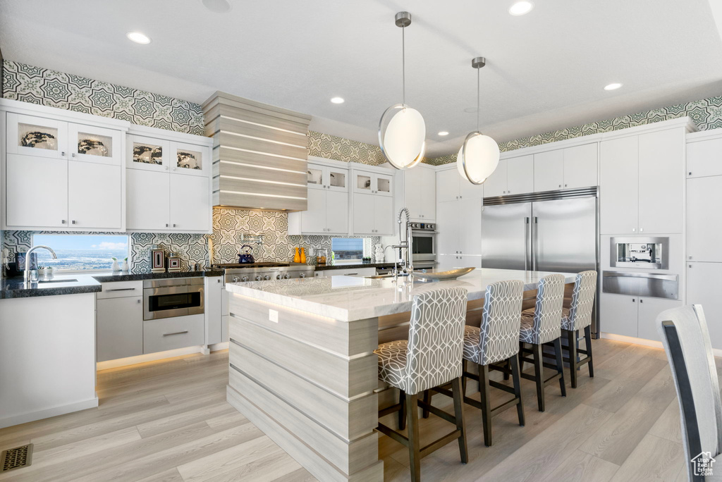
<instances>
[{"instance_id":1,"label":"white drawer front directly below the built-in microwave drawer","mask_svg":"<svg viewBox=\"0 0 722 482\"><path fill-rule=\"evenodd\" d=\"M204 345L203 315L176 316L143 322L143 353Z\"/></svg>"}]
</instances>

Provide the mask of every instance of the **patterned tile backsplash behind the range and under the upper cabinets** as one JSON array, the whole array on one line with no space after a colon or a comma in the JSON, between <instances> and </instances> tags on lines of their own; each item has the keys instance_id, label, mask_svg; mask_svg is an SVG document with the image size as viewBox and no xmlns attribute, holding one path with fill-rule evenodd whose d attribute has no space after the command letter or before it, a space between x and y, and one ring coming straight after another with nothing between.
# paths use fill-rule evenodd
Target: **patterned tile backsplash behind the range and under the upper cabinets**
<instances>
[{"instance_id":1,"label":"patterned tile backsplash behind the range and under the upper cabinets","mask_svg":"<svg viewBox=\"0 0 722 482\"><path fill-rule=\"evenodd\" d=\"M5 231L4 247L12 252L24 252L32 245L32 235L63 234L56 231ZM79 233L68 233L79 234ZM91 233L118 234L118 233ZM245 209L216 208L213 210L213 234L190 235L185 233L149 233L133 232L130 236L129 265L132 273L150 269L150 249L152 245L161 245L167 253L173 252L192 266L209 264L208 239L214 245L213 263L236 263L238 252L243 244L241 235L263 235L263 243L248 243L253 248L257 261L292 261L295 247L303 247L307 253L307 263L315 264L316 250L326 249L331 255L330 236L290 236L288 235L288 214L280 211L248 211ZM365 238L365 253L371 253L371 245L380 242L378 237ZM184 267L186 267L184 266Z\"/></svg>"}]
</instances>

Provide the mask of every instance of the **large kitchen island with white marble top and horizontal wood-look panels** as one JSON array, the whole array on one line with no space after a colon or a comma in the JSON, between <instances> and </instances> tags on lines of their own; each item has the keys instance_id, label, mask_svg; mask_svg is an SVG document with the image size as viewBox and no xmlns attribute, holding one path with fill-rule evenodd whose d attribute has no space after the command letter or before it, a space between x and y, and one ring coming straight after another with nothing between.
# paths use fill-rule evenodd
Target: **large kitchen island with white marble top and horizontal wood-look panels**
<instances>
[{"instance_id":1,"label":"large kitchen island with white marble top and horizontal wood-look panels","mask_svg":"<svg viewBox=\"0 0 722 482\"><path fill-rule=\"evenodd\" d=\"M487 285L518 279L534 291L547 274L480 269L440 282L331 276L227 284L227 400L316 478L381 481L374 429L393 390L378 382L373 350L406 338L414 294L462 287L466 323L478 325Z\"/></svg>"}]
</instances>

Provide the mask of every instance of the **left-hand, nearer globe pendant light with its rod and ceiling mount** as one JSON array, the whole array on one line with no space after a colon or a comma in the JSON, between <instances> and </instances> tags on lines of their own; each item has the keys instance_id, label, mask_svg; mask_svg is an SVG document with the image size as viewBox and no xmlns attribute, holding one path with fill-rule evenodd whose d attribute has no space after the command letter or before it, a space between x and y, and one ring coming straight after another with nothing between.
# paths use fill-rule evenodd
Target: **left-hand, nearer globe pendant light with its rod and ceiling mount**
<instances>
[{"instance_id":1,"label":"left-hand, nearer globe pendant light with its rod and ceiling mount","mask_svg":"<svg viewBox=\"0 0 722 482\"><path fill-rule=\"evenodd\" d=\"M404 29L411 25L411 14L399 12L394 19L401 27L401 104L386 109L378 123L378 145L396 169L414 167L424 157L426 124L418 110L406 105L406 45Z\"/></svg>"}]
</instances>

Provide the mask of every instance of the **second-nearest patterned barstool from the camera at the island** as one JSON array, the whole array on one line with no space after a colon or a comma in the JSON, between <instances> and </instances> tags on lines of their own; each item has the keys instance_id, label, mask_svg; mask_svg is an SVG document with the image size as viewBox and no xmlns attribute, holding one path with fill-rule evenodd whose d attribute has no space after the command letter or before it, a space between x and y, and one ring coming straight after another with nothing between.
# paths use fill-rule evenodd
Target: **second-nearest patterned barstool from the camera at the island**
<instances>
[{"instance_id":1,"label":"second-nearest patterned barstool from the camera at the island","mask_svg":"<svg viewBox=\"0 0 722 482\"><path fill-rule=\"evenodd\" d=\"M498 281L490 284L484 294L484 314L479 328L464 327L464 377L478 380L481 393L481 401L468 398L464 393L464 402L481 409L484 445L487 447L492 444L492 416L516 406L519 425L524 425L518 359L523 291L524 284L521 281ZM466 369L467 362L479 366L478 375ZM510 365L510 369L497 366L502 362ZM490 369L510 372L513 387L490 380ZM511 393L514 397L491 408L490 387Z\"/></svg>"}]
</instances>

